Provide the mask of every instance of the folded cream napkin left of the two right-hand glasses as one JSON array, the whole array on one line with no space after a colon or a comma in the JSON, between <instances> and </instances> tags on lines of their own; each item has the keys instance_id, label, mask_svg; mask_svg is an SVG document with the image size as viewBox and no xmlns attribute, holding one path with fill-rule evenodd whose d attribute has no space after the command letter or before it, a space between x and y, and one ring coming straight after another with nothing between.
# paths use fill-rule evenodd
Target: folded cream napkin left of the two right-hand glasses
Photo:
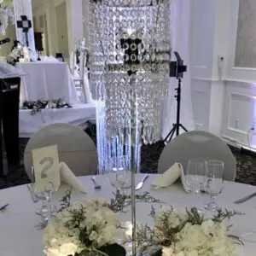
<instances>
[{"instance_id":1,"label":"folded cream napkin left of the two right-hand glasses","mask_svg":"<svg viewBox=\"0 0 256 256\"><path fill-rule=\"evenodd\" d=\"M151 183L152 189L161 189L171 186L181 177L183 188L186 192L189 192L188 185L184 178L183 166L179 163L175 163L166 172L164 172L160 177L157 177L153 183Z\"/></svg>"}]
</instances>

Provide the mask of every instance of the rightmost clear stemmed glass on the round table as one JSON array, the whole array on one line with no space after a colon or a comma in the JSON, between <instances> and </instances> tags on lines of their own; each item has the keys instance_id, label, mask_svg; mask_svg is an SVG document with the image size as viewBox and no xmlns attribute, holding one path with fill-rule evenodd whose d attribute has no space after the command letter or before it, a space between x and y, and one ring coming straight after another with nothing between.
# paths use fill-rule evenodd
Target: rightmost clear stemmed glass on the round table
<instances>
[{"instance_id":1,"label":"rightmost clear stemmed glass on the round table","mask_svg":"<svg viewBox=\"0 0 256 256\"><path fill-rule=\"evenodd\" d=\"M207 183L205 190L211 196L211 201L204 206L209 211L218 209L216 197L224 187L224 162L220 160L207 160Z\"/></svg>"}]
</instances>

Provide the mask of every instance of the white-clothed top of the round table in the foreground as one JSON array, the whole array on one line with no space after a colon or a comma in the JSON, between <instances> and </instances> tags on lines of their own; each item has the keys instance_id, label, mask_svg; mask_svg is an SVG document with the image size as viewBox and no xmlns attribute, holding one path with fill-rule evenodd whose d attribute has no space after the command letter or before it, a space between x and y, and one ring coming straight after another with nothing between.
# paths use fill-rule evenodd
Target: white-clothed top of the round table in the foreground
<instances>
[{"instance_id":1,"label":"white-clothed top of the round table in the foreground","mask_svg":"<svg viewBox=\"0 0 256 256\"><path fill-rule=\"evenodd\" d=\"M189 195L184 192L180 183L173 184L166 189L150 189L150 183L158 176L152 174L143 186L143 189L137 191L137 194L143 194L143 191L149 191L156 198L166 201L168 204L177 208L199 206L201 203L209 201L208 195L201 195L195 198L195 195ZM137 182L143 177L143 174L137 174ZM87 189L87 194L80 194L73 190L72 202L83 201L93 197L104 197L110 200L113 197L114 189L110 185L107 176L98 176L96 180L102 184L101 190L95 190L90 177L79 177L81 183ZM61 188L53 195L53 204L59 206L59 199L64 195L67 186ZM232 234L240 235L252 230L256 231L256 197L241 204L235 205L233 201L255 192L255 187L241 183L224 183L224 189L218 196L218 206L234 209L246 213L244 216L232 218L231 224L234 224ZM0 205L9 203L9 207L0 212L0 251L3 256L43 256L42 237L44 230L38 230L35 226L40 218L35 211L40 207L40 202L32 203L26 185L17 186L9 189L0 190ZM137 222L152 224L152 219L148 216L152 204L137 203ZM154 207L160 205L154 204ZM118 214L120 221L131 220L131 211ZM235 234L234 234L235 235ZM245 246L239 248L237 256L254 256L256 252L256 242L244 241Z\"/></svg>"}]
</instances>

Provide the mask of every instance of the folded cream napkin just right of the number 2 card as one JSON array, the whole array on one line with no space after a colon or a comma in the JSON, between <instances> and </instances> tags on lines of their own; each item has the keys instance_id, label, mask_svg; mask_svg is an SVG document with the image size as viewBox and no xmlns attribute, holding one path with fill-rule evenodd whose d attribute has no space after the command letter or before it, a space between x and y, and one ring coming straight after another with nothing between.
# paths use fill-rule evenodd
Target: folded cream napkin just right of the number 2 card
<instances>
[{"instance_id":1,"label":"folded cream napkin just right of the number 2 card","mask_svg":"<svg viewBox=\"0 0 256 256\"><path fill-rule=\"evenodd\" d=\"M61 182L71 185L73 189L76 189L79 192L87 193L83 184L79 182L66 163L61 162L59 167L61 172Z\"/></svg>"}]
</instances>

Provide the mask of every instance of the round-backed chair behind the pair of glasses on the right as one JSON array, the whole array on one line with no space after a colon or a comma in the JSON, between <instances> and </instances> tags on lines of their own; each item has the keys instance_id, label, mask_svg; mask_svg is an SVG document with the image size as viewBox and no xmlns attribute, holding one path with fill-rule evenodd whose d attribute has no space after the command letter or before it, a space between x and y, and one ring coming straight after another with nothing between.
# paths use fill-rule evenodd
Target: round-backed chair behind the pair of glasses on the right
<instances>
[{"instance_id":1,"label":"round-backed chair behind the pair of glasses on the right","mask_svg":"<svg viewBox=\"0 0 256 256\"><path fill-rule=\"evenodd\" d=\"M221 160L224 162L224 180L236 178L236 158L220 138L206 131L189 131L175 137L160 155L158 172L166 172L174 163L186 170L189 159Z\"/></svg>"}]
</instances>

